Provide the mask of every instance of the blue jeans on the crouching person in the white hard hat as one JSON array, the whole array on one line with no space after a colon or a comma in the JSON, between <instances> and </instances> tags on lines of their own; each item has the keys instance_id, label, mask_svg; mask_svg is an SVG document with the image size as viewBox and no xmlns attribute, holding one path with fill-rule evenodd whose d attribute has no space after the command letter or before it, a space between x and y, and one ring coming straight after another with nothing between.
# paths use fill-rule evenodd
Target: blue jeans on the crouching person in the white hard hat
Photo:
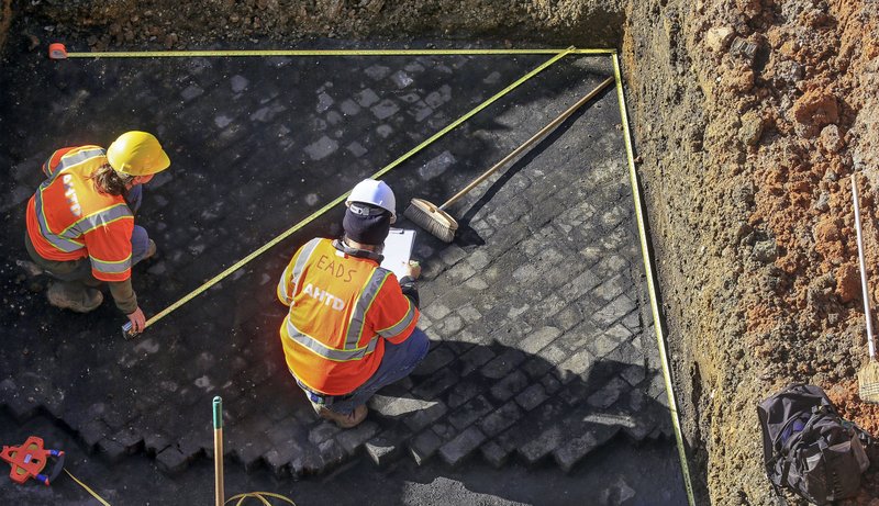
<instances>
[{"instance_id":1,"label":"blue jeans on the crouching person in the white hard hat","mask_svg":"<svg viewBox=\"0 0 879 506\"><path fill-rule=\"evenodd\" d=\"M385 341L385 357L376 372L354 392L341 397L332 397L333 402L326 407L349 414L357 406L363 406L376 392L396 381L408 376L410 372L427 356L431 341L424 330L415 327L412 334L399 345Z\"/></svg>"}]
</instances>

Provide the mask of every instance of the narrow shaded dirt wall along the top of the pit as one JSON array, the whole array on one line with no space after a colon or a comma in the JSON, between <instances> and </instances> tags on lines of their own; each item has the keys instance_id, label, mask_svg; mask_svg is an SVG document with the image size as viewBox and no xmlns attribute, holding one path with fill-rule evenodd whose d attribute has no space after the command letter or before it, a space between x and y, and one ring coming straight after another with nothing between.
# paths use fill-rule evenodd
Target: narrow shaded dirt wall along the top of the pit
<instances>
[{"instance_id":1,"label":"narrow shaded dirt wall along the top of the pit","mask_svg":"<svg viewBox=\"0 0 879 506\"><path fill-rule=\"evenodd\" d=\"M11 1L11 0L3 0ZM475 38L613 46L623 0L14 1L32 20L19 43L85 40L97 50L290 43L310 36ZM85 38L80 38L85 35ZM240 45L240 44L238 44ZM81 50L82 48L80 48Z\"/></svg>"}]
</instances>

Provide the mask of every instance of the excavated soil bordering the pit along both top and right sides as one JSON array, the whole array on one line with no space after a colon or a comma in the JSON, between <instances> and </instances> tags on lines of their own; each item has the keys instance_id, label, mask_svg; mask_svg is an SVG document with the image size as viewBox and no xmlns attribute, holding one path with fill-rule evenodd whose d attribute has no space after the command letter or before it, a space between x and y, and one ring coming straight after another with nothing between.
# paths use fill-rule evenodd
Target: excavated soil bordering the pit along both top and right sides
<instances>
[{"instance_id":1,"label":"excavated soil bordering the pit along both top and right sides","mask_svg":"<svg viewBox=\"0 0 879 506\"><path fill-rule=\"evenodd\" d=\"M867 346L848 182L858 172L875 278L875 0L4 0L0 15L0 44L35 52L312 36L621 48L697 504L772 504L755 405L793 381L879 435L879 408L857 396ZM857 504L877 484L868 474Z\"/></svg>"}]
</instances>

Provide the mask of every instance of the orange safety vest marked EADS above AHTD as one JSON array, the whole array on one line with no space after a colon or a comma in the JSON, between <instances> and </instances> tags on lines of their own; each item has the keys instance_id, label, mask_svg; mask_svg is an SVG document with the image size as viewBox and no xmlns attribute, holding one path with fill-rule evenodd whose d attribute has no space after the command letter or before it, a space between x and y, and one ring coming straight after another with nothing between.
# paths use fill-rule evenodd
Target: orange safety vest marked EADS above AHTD
<instances>
[{"instance_id":1,"label":"orange safety vest marked EADS above AHTD","mask_svg":"<svg viewBox=\"0 0 879 506\"><path fill-rule=\"evenodd\" d=\"M278 283L290 306L280 328L287 366L310 390L354 392L376 372L385 339L404 341L419 310L393 272L316 238L293 255Z\"/></svg>"}]
</instances>

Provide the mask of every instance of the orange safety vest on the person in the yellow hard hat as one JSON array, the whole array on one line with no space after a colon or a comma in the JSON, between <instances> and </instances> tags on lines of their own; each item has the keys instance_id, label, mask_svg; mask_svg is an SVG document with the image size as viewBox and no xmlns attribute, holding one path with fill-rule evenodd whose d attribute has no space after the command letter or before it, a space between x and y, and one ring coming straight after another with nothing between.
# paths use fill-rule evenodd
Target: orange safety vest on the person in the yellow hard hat
<instances>
[{"instance_id":1,"label":"orange safety vest on the person in the yellow hard hat","mask_svg":"<svg viewBox=\"0 0 879 506\"><path fill-rule=\"evenodd\" d=\"M98 146L67 147L43 165L48 179L27 202L27 235L46 260L88 257L101 281L131 277L134 215L122 195L101 193L89 179L107 164Z\"/></svg>"}]
</instances>

